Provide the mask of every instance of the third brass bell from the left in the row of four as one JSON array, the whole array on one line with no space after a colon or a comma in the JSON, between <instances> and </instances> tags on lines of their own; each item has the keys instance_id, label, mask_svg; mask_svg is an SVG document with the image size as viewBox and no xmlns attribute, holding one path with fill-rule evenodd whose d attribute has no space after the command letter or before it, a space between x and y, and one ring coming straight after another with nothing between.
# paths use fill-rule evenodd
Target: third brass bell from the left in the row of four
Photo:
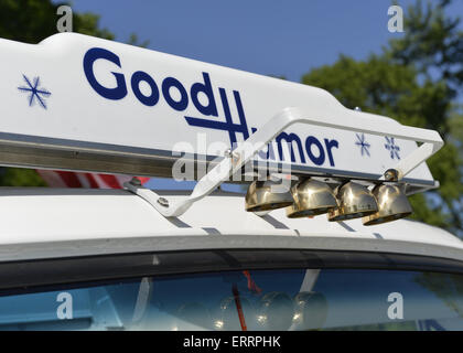
<instances>
[{"instance_id":1,"label":"third brass bell from the left in the row of four","mask_svg":"<svg viewBox=\"0 0 463 353\"><path fill-rule=\"evenodd\" d=\"M329 212L329 221L347 221L370 215L378 211L375 196L368 188L352 181L335 190L338 206Z\"/></svg>"}]
</instances>

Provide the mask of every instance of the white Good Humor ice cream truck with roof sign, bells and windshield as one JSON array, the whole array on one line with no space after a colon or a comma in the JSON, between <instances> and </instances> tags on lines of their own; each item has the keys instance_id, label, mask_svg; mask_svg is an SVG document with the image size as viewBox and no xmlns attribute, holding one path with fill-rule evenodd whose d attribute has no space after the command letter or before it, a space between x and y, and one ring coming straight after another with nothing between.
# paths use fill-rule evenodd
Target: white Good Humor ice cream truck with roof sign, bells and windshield
<instances>
[{"instance_id":1,"label":"white Good Humor ice cream truck with roof sign, bells and windshield","mask_svg":"<svg viewBox=\"0 0 463 353\"><path fill-rule=\"evenodd\" d=\"M127 178L0 188L0 329L463 329L462 242L407 220L437 131L82 34L0 56L1 165Z\"/></svg>"}]
</instances>

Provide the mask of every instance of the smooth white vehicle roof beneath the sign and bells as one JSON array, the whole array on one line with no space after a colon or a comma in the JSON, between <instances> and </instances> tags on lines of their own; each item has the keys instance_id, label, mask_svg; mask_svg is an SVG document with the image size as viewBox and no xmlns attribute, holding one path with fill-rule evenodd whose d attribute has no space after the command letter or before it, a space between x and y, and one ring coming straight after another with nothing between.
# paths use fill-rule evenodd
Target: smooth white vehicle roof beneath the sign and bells
<instances>
[{"instance_id":1,"label":"smooth white vehicle roof beneath the sign and bells","mask_svg":"<svg viewBox=\"0 0 463 353\"><path fill-rule=\"evenodd\" d=\"M172 200L183 192L163 192ZM241 194L215 192L166 218L125 190L0 189L0 261L193 249L324 249L410 254L463 260L452 234L419 222L365 227L326 215L258 216Z\"/></svg>"}]
</instances>

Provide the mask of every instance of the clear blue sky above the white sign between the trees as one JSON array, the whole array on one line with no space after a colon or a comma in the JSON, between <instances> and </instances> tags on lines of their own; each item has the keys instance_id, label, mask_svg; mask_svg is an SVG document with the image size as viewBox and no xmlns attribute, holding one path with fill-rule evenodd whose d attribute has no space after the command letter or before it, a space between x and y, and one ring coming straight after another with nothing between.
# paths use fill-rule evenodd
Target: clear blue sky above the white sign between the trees
<instances>
[{"instance_id":1,"label":"clear blue sky above the white sign between the trees","mask_svg":"<svg viewBox=\"0 0 463 353\"><path fill-rule=\"evenodd\" d=\"M299 82L341 53L365 58L398 33L387 30L390 0L74 0L73 9L101 15L100 24L126 42ZM414 0L401 0L406 9ZM452 13L463 14L454 0ZM407 31L407 29L405 29Z\"/></svg>"}]
</instances>

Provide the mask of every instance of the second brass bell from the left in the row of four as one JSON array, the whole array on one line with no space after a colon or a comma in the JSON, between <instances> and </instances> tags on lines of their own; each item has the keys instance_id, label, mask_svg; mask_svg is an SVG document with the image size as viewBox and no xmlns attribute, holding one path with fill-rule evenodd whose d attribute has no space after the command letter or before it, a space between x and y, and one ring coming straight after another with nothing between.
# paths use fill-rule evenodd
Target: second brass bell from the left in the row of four
<instances>
[{"instance_id":1,"label":"second brass bell from the left in the row of four","mask_svg":"<svg viewBox=\"0 0 463 353\"><path fill-rule=\"evenodd\" d=\"M314 216L337 206L333 190L317 180L306 179L291 188L294 202L287 207L290 218Z\"/></svg>"}]
</instances>

